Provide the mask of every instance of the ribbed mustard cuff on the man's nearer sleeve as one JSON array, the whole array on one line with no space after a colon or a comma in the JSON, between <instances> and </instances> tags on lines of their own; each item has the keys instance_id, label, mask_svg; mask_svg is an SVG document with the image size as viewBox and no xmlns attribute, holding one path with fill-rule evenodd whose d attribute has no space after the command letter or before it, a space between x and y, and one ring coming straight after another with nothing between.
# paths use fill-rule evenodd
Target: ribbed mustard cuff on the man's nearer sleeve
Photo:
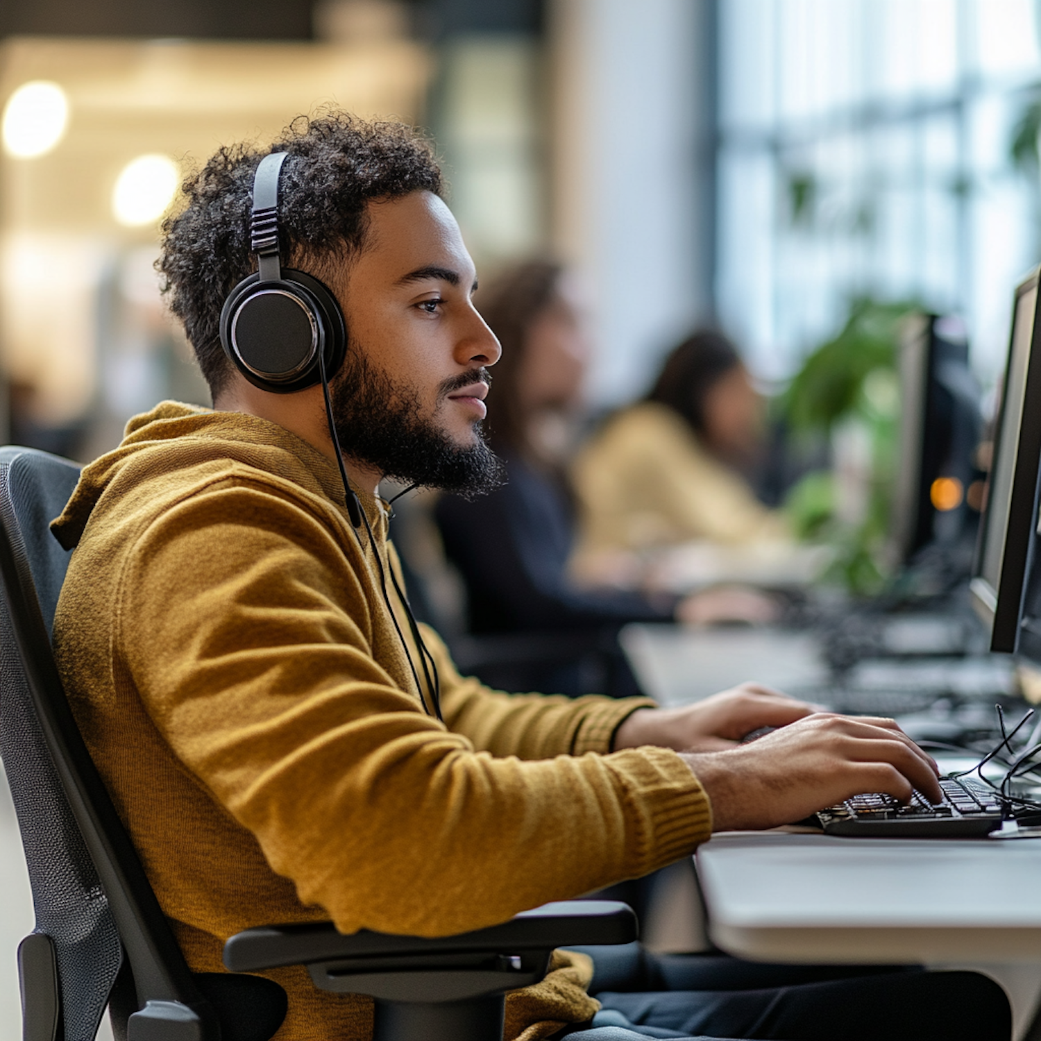
<instances>
[{"instance_id":1,"label":"ribbed mustard cuff on the man's nearer sleeve","mask_svg":"<svg viewBox=\"0 0 1041 1041\"><path fill-rule=\"evenodd\" d=\"M629 870L637 878L687 857L712 834L712 807L697 778L669 748L616 752L607 760L626 789L633 829Z\"/></svg>"}]
</instances>

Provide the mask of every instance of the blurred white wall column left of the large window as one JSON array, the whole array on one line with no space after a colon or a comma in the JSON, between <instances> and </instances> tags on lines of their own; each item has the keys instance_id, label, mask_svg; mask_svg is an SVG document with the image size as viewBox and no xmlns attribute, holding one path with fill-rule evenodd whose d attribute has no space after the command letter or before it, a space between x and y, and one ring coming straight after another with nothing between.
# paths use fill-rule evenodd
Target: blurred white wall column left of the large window
<instances>
[{"instance_id":1,"label":"blurred white wall column left of the large window","mask_svg":"<svg viewBox=\"0 0 1041 1041\"><path fill-rule=\"evenodd\" d=\"M552 240L585 274L599 345L590 393L640 393L710 313L699 227L705 0L552 0Z\"/></svg>"}]
</instances>

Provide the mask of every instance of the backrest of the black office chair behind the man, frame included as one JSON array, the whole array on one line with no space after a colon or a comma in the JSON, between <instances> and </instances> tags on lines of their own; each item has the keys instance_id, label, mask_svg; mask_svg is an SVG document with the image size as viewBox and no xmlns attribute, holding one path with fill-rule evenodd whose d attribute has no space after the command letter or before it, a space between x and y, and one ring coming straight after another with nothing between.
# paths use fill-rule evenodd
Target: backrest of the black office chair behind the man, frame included
<instances>
[{"instance_id":1,"label":"backrest of the black office chair behind the man, frame included","mask_svg":"<svg viewBox=\"0 0 1041 1041\"><path fill-rule=\"evenodd\" d=\"M53 943L61 1041L93 1041L124 953L137 1007L195 1010L194 1036L206 1038L209 1008L91 760L51 653L69 554L48 524L78 477L56 456L0 449L0 757L29 869L33 933ZM22 968L24 1005L35 984L27 987L24 960ZM54 1035L36 1022L30 1036Z\"/></svg>"}]
</instances>

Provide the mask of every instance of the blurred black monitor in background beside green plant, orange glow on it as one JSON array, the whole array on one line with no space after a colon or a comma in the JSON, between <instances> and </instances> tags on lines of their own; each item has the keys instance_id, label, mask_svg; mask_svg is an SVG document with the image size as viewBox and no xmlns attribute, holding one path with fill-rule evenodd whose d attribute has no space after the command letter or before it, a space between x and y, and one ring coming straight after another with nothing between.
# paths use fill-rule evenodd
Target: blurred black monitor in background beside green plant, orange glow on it
<instances>
[{"instance_id":1,"label":"blurred black monitor in background beside green plant, orange glow on it","mask_svg":"<svg viewBox=\"0 0 1041 1041\"><path fill-rule=\"evenodd\" d=\"M926 545L967 542L960 565L967 577L977 515L966 492L977 477L983 416L961 320L912 315L900 337L899 377L894 556L907 565Z\"/></svg>"}]
</instances>

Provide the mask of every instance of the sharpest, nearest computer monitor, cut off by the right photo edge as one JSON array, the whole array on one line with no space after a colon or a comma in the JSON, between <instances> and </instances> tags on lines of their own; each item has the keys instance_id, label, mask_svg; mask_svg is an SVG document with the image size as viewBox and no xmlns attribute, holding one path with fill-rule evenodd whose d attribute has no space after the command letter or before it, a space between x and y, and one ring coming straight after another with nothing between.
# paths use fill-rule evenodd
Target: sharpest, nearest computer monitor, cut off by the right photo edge
<instances>
[{"instance_id":1,"label":"sharpest, nearest computer monitor, cut off by the right photo edge","mask_svg":"<svg viewBox=\"0 0 1041 1041\"><path fill-rule=\"evenodd\" d=\"M991 651L1018 649L1038 512L1041 463L1041 350L1036 269L1016 288L1009 361L994 427L980 525L972 602L990 630ZM1026 403L1032 403L1027 408Z\"/></svg>"}]
</instances>

